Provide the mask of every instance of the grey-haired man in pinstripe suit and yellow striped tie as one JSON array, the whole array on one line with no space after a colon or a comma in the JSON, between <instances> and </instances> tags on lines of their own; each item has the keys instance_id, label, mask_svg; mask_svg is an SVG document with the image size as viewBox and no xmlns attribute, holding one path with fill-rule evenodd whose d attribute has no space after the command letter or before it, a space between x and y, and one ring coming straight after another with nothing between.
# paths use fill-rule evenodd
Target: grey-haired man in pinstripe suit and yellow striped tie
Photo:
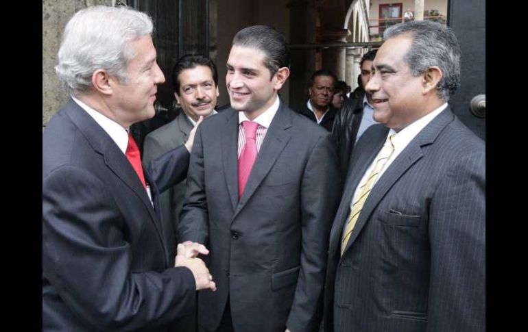
<instances>
[{"instance_id":1,"label":"grey-haired man in pinstripe suit and yellow striped tie","mask_svg":"<svg viewBox=\"0 0 528 332\"><path fill-rule=\"evenodd\" d=\"M447 101L453 31L400 23L365 86L374 120L330 236L325 331L485 331L485 144Z\"/></svg>"}]
</instances>

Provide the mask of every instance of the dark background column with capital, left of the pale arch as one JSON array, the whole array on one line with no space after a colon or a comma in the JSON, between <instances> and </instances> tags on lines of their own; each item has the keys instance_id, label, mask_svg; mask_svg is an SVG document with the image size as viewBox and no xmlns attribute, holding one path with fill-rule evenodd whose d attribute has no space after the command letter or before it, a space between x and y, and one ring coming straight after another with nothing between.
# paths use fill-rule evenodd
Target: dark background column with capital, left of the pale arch
<instances>
[{"instance_id":1,"label":"dark background column with capital, left of the pale arch","mask_svg":"<svg viewBox=\"0 0 528 332\"><path fill-rule=\"evenodd\" d=\"M346 42L346 36L350 34L348 29L326 29L321 33L321 43ZM344 47L330 47L322 50L322 66L332 71L337 79L345 79L346 51Z\"/></svg>"}]
</instances>

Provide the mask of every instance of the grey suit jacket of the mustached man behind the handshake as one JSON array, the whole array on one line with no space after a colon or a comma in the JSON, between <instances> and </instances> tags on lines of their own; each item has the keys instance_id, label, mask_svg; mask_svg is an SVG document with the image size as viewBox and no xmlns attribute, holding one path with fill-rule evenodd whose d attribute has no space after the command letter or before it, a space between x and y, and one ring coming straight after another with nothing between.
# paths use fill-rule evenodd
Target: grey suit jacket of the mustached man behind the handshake
<instances>
[{"instance_id":1,"label":"grey suit jacket of the mustached man behind the handshake","mask_svg":"<svg viewBox=\"0 0 528 332\"><path fill-rule=\"evenodd\" d=\"M193 124L184 112L180 112L170 123L149 133L143 143L143 164L147 165L152 159L185 144L191 129ZM167 253L171 261L176 257L176 244L179 242L176 235L184 194L184 180L160 194L160 214L167 240Z\"/></svg>"}]
</instances>

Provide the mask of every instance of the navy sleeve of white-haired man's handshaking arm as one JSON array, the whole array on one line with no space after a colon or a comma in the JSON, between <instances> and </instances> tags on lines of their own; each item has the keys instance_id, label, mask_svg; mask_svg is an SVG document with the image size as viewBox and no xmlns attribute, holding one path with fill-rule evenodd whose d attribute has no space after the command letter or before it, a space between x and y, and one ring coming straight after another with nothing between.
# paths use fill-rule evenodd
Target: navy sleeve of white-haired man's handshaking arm
<instances>
[{"instance_id":1,"label":"navy sleeve of white-haired man's handshaking arm","mask_svg":"<svg viewBox=\"0 0 528 332\"><path fill-rule=\"evenodd\" d=\"M195 307L188 268L132 272L123 218L86 170L63 166L43 179L43 276L94 331L156 329Z\"/></svg>"}]
</instances>

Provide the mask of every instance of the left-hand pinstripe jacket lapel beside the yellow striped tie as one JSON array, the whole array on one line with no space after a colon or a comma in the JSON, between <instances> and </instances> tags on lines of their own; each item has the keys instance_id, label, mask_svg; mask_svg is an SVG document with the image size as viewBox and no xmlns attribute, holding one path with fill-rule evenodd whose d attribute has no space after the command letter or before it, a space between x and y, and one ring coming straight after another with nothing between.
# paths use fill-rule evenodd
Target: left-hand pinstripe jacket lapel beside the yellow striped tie
<instances>
[{"instance_id":1,"label":"left-hand pinstripe jacket lapel beside the yellow striped tie","mask_svg":"<svg viewBox=\"0 0 528 332\"><path fill-rule=\"evenodd\" d=\"M357 146L355 151L352 152L361 154L363 153L362 151L366 151L364 157L353 157L350 160L345 181L345 188L343 196L341 197L341 204L339 205L339 209L335 217L337 222L334 222L330 234L330 248L332 251L339 250L341 246L341 233L348 215L350 214L350 202L352 201L352 196L354 195L356 187L359 185L361 177L363 177L363 174L365 174L368 166L372 164L372 161L378 154L381 146L383 146L389 129L383 125L379 125L378 131L379 133L373 134L373 136L375 135L374 139L361 141L364 145ZM350 243L350 241L348 243Z\"/></svg>"}]
</instances>

